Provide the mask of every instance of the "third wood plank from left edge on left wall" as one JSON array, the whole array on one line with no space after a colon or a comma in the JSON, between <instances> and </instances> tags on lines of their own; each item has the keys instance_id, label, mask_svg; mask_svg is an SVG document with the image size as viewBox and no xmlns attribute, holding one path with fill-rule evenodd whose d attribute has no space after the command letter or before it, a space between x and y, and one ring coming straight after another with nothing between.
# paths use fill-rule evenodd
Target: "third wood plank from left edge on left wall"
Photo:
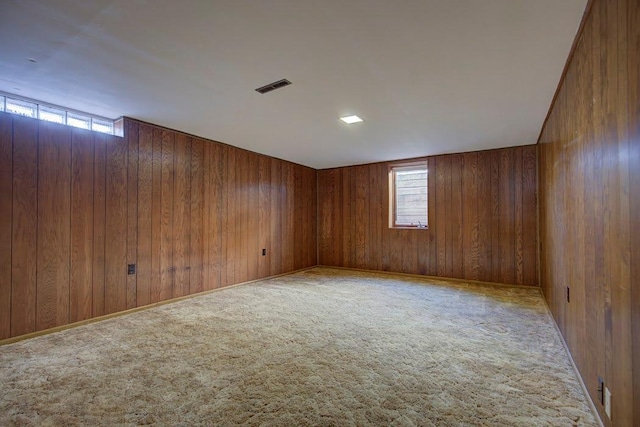
<instances>
[{"instance_id":1,"label":"third wood plank from left edge on left wall","mask_svg":"<svg viewBox=\"0 0 640 427\"><path fill-rule=\"evenodd\" d=\"M41 122L38 135L36 329L69 323L71 129Z\"/></svg>"}]
</instances>

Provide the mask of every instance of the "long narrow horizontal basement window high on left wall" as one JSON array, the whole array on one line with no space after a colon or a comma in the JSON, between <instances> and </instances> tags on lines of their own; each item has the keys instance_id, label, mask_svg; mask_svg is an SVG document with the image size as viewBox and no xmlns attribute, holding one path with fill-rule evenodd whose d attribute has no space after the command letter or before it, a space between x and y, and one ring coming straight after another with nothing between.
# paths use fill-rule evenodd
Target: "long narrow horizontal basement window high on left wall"
<instances>
[{"instance_id":1,"label":"long narrow horizontal basement window high on left wall","mask_svg":"<svg viewBox=\"0 0 640 427\"><path fill-rule=\"evenodd\" d=\"M10 94L0 95L0 111L110 135L115 132L113 120Z\"/></svg>"}]
</instances>

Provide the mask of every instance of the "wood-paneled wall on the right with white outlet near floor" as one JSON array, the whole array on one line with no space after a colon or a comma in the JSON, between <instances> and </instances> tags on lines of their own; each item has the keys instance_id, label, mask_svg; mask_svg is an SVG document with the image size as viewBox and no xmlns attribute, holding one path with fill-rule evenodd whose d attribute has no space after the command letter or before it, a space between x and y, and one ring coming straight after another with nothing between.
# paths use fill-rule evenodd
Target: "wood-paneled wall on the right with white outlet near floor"
<instances>
[{"instance_id":1,"label":"wood-paneled wall on the right with white outlet near floor","mask_svg":"<svg viewBox=\"0 0 640 427\"><path fill-rule=\"evenodd\" d=\"M638 426L639 3L590 5L540 137L541 281L605 424Z\"/></svg>"}]
</instances>

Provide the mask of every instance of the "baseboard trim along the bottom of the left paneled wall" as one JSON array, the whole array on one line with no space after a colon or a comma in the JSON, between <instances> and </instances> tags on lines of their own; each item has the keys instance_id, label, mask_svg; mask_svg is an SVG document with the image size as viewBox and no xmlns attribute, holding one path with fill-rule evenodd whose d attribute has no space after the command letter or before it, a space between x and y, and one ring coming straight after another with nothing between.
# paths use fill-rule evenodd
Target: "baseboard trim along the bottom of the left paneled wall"
<instances>
[{"instance_id":1,"label":"baseboard trim along the bottom of the left paneled wall","mask_svg":"<svg viewBox=\"0 0 640 427\"><path fill-rule=\"evenodd\" d=\"M289 271L289 272L281 273L281 274L275 274L273 276L263 277L263 278L260 278L260 279L249 280L249 281L241 282L241 283L234 283L233 285L227 285L227 286L223 286L221 288L209 289L207 291L202 291L202 292L198 292L198 293L195 293L195 294L190 294L190 295L185 295L185 296L182 296L182 297L172 298L172 299L168 299L168 300L165 300L165 301L154 302L153 304L143 305L141 307L130 308L130 309L123 310L123 311L118 311L118 312L115 312L115 313L109 313L109 314L105 314L103 316L92 317L91 319L80 320L78 322L68 323L66 325L55 326L53 328L43 329L41 331L36 331L36 332L31 332L31 333L28 333L28 334L19 335L17 337L6 338L4 340L0 340L0 347L3 346L3 345L8 345L8 344L13 344L13 343L20 342L20 341L25 341L25 340L28 340L28 339L31 339L31 338L40 337L40 336L43 336L43 335L49 335L49 334L53 334L53 333L56 333L56 332L61 332L61 331L64 331L64 330L67 330L67 329L71 329L71 328L77 328L78 326L89 325L91 323L100 322L102 320L113 319L114 317L125 316L127 314L136 313L138 311L148 310L150 308L160 307L162 305L173 304L174 302L184 301L184 300L187 300L187 299L191 299L191 298L195 298L195 297L199 297L199 296L203 296L203 295L208 295L208 294L211 294L211 293L214 293L214 292L218 292L218 291L224 291L225 289L231 289L231 288L235 288L237 286L244 286L244 285L249 285L251 283L257 283L257 282L262 282L262 281L265 281L265 280L275 279L276 277L288 276L290 274L299 273L301 271L311 270L311 269L316 268L316 267L317 267L316 265L313 265L311 267L300 268L298 270L293 270L293 271Z\"/></svg>"}]
</instances>

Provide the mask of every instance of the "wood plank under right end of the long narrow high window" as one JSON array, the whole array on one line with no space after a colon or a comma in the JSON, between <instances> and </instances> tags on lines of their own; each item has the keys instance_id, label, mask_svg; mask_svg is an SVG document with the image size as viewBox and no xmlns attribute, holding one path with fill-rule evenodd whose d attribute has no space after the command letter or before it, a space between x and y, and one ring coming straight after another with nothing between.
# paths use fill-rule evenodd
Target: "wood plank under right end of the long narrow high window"
<instances>
[{"instance_id":1,"label":"wood plank under right end of the long narrow high window","mask_svg":"<svg viewBox=\"0 0 640 427\"><path fill-rule=\"evenodd\" d=\"M107 143L105 314L127 308L127 141Z\"/></svg>"}]
</instances>

